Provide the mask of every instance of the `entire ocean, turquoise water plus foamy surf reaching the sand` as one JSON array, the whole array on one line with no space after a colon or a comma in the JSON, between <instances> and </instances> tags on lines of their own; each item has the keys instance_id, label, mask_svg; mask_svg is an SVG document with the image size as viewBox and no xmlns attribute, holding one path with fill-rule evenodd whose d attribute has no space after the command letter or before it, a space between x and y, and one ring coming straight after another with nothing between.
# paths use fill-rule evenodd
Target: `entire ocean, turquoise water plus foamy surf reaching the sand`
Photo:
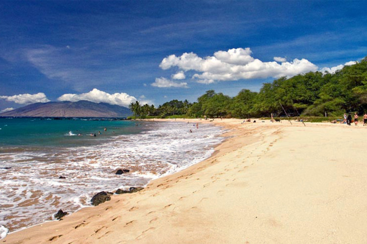
<instances>
[{"instance_id":1,"label":"entire ocean, turquoise water plus foamy surf reaching the sand","mask_svg":"<svg viewBox=\"0 0 367 244\"><path fill-rule=\"evenodd\" d=\"M222 133L192 122L0 118L0 236L199 163Z\"/></svg>"}]
</instances>

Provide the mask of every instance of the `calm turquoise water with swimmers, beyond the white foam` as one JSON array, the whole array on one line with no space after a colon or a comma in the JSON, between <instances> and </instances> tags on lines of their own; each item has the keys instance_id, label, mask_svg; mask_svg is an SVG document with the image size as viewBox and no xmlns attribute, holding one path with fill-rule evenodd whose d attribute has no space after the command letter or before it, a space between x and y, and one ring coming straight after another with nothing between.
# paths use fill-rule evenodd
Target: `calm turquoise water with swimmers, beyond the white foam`
<instances>
[{"instance_id":1,"label":"calm turquoise water with swimmers, beyond the white foam","mask_svg":"<svg viewBox=\"0 0 367 244\"><path fill-rule=\"evenodd\" d=\"M137 125L137 122L108 119L0 118L0 146L92 145L145 130Z\"/></svg>"}]
</instances>

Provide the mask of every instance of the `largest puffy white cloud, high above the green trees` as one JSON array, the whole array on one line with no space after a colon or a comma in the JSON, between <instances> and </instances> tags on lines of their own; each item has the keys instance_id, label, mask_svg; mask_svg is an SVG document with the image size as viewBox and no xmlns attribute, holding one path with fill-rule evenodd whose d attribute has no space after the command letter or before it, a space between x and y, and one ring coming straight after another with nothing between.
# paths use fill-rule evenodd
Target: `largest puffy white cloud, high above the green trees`
<instances>
[{"instance_id":1,"label":"largest puffy white cloud, high above the green trees","mask_svg":"<svg viewBox=\"0 0 367 244\"><path fill-rule=\"evenodd\" d=\"M178 67L183 71L193 70L192 76L197 82L212 83L214 81L237 81L240 79L292 77L300 73L317 71L318 66L306 59L286 61L275 57L275 61L263 62L254 59L250 48L236 48L228 51L215 52L213 56L199 57L195 53L184 53L177 57L170 55L161 61L164 70ZM278 62L281 63L278 63ZM160 79L163 83L167 80ZM156 83L157 80L156 80Z\"/></svg>"}]
</instances>

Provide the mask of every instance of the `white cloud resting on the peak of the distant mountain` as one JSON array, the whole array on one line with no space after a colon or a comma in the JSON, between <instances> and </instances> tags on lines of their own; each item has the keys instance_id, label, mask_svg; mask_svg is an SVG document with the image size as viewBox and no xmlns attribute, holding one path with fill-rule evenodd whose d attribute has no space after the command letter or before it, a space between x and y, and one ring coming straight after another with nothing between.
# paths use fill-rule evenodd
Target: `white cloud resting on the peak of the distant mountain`
<instances>
[{"instance_id":1,"label":"white cloud resting on the peak of the distant mountain","mask_svg":"<svg viewBox=\"0 0 367 244\"><path fill-rule=\"evenodd\" d=\"M113 105L129 106L131 102L137 101L133 96L126 93L109 94L94 88L92 91L82 94L64 94L57 99L58 101L77 102L87 100L90 102L106 102Z\"/></svg>"}]
</instances>

